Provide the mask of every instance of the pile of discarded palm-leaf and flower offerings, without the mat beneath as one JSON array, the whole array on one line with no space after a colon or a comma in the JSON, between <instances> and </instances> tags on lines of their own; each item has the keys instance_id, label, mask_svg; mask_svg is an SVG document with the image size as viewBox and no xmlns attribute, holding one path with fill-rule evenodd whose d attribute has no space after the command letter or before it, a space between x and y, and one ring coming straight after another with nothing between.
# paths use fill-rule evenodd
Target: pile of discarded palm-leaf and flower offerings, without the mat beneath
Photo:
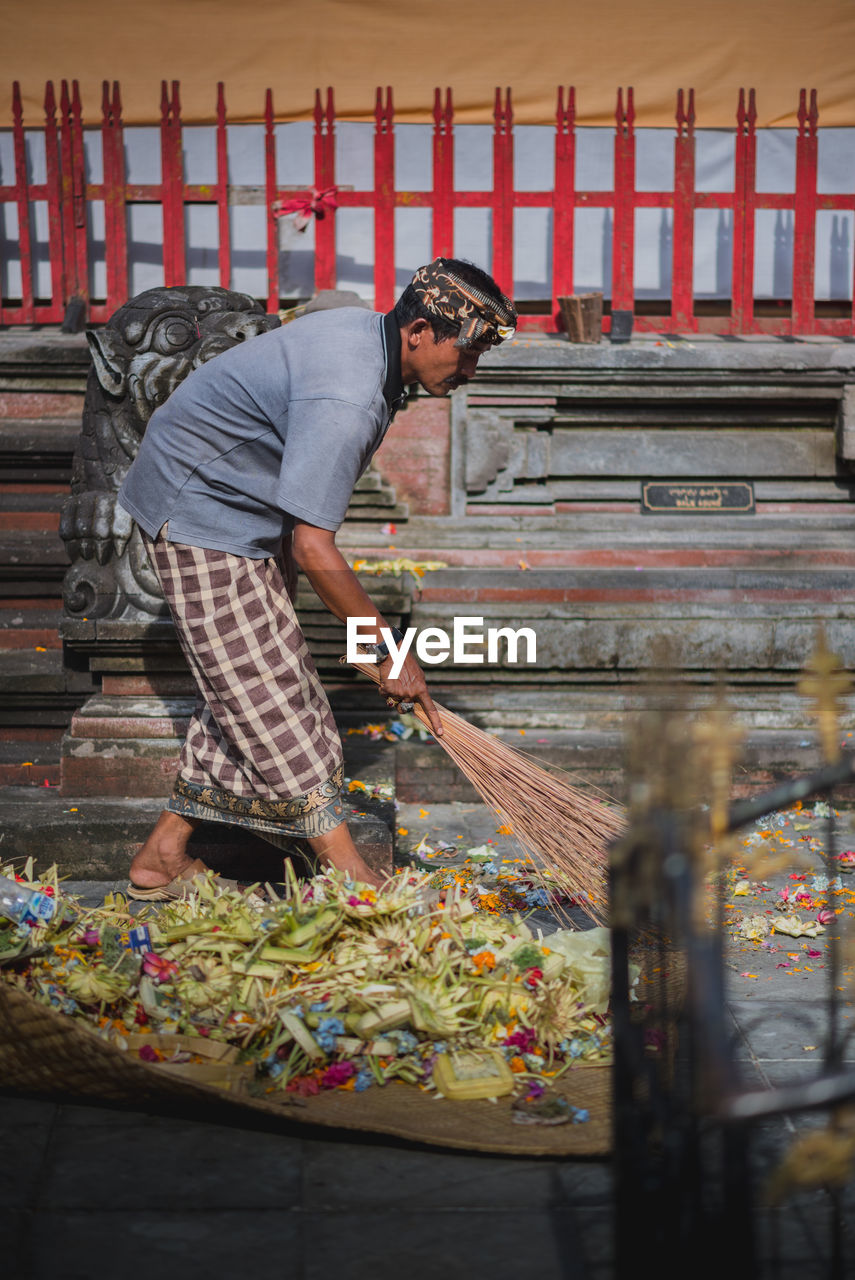
<instances>
[{"instance_id":1,"label":"pile of discarded palm-leaf and flower offerings, without the mat beneath","mask_svg":"<svg viewBox=\"0 0 855 1280\"><path fill-rule=\"evenodd\" d=\"M211 1082L239 1070L260 1094L392 1079L440 1093L448 1062L466 1060L497 1094L532 1100L571 1065L611 1055L607 931L544 941L518 914L477 910L458 883L431 887L430 873L379 891L289 873L280 896L209 876L133 915L120 895L82 906L55 869L17 878L58 905L36 927L0 919L0 980L165 1069Z\"/></svg>"}]
</instances>

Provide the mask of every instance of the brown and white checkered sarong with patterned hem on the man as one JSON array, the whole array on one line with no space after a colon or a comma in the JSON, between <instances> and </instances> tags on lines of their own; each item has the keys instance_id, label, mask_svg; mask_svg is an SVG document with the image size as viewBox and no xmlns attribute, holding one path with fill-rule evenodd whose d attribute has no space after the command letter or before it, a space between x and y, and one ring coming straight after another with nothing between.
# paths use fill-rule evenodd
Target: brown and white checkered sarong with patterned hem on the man
<instances>
[{"instance_id":1,"label":"brown and white checkered sarong with patterned hem on the man","mask_svg":"<svg viewBox=\"0 0 855 1280\"><path fill-rule=\"evenodd\" d=\"M338 827L342 742L278 562L143 538L198 689L168 809L271 844Z\"/></svg>"}]
</instances>

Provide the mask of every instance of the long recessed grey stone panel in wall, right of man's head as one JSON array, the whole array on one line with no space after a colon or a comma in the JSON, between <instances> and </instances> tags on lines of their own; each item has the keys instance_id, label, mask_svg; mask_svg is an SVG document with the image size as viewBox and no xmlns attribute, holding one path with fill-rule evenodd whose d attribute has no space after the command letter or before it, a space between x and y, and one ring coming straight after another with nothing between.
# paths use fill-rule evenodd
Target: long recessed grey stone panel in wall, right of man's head
<instances>
[{"instance_id":1,"label":"long recessed grey stone panel in wall, right of man's head","mask_svg":"<svg viewBox=\"0 0 855 1280\"><path fill-rule=\"evenodd\" d=\"M740 480L762 500L832 502L852 483L855 398L851 385L813 397L724 383L580 385L552 407L521 393L467 406L459 448L463 509L640 503L645 480Z\"/></svg>"}]
</instances>

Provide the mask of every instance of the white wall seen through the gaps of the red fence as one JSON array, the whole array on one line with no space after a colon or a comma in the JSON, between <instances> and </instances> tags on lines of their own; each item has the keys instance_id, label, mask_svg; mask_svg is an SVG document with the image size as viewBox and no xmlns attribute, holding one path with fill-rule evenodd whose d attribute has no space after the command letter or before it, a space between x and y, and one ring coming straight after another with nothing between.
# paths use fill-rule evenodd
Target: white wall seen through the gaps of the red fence
<instances>
[{"instance_id":1,"label":"white wall seen through the gaps of the red fence","mask_svg":"<svg viewBox=\"0 0 855 1280\"><path fill-rule=\"evenodd\" d=\"M396 186L403 191L431 188L431 127L403 124L396 129ZM454 184L458 191L489 191L493 184L493 131L488 125L458 125L454 147ZM133 184L160 182L160 133L157 128L128 128L125 138L127 180ZM636 132L636 187L639 191L673 189L673 133L669 129ZM699 191L733 189L733 133L696 133L696 186ZM184 178L192 184L216 180L216 137L209 127L183 132ZM611 189L613 184L613 129L579 129L576 133L576 187L581 191ZM45 182L44 134L26 134L29 180ZM312 186L312 125L300 122L275 129L276 180L282 186ZM554 131L545 125L515 129L515 186L518 191L548 191L554 180ZM791 192L795 187L796 134L792 129L758 133L759 192ZM87 180L102 177L101 136L84 132ZM261 188L229 210L232 228L232 287L255 297L266 297L264 215L264 128L229 125L229 183ZM342 188L370 191L374 184L374 125L343 122L335 131L337 183ZM14 151L10 131L0 131L0 186L14 183ZM820 193L855 191L855 129L819 131ZM671 210L641 209L635 219L635 292L639 300L666 300L671 294ZM552 210L515 211L513 292L518 300L552 296ZM611 294L612 211L579 209L575 215L573 279L579 292L603 289ZM695 214L695 296L726 298L731 292L733 218L728 210L703 209ZM191 284L219 283L218 218L214 205L186 210L187 279ZM314 227L297 232L293 219L282 219L280 294L285 300L311 296L314 289ZM105 220L101 201L88 212L91 248L90 288L101 298L106 289ZM855 216L846 211L817 215L818 300L852 297L852 252ZM31 210L35 287L38 297L50 294L47 255L47 206ZM489 266L491 214L486 209L458 209L454 214L454 252ZM758 298L788 298L792 288L794 216L791 211L758 210L754 292ZM371 300L374 292L374 214L369 209L340 209L337 214L338 285ZM451 246L449 246L451 248ZM427 209L396 211L394 264L398 289L412 270L431 256L431 214ZM128 209L128 262L131 293L164 283L163 215L159 205ZM18 214L13 205L0 206L0 288L8 298L20 294Z\"/></svg>"}]
</instances>

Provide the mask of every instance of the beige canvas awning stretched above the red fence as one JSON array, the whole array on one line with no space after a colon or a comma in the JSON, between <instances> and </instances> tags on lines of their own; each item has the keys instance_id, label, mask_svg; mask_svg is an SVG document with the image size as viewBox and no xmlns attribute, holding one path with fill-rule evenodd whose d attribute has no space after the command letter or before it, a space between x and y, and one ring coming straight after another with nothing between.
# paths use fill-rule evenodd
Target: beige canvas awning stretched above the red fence
<instances>
[{"instance_id":1,"label":"beige canvas awning stretched above the red fence","mask_svg":"<svg viewBox=\"0 0 855 1280\"><path fill-rule=\"evenodd\" d=\"M497 86L515 119L554 119L558 84L576 87L580 124L611 124L618 86L635 88L636 127L673 124L676 91L695 88L698 127L731 128L740 87L758 92L758 124L792 125L799 90L817 88L822 125L855 125L852 0L104 0L8 3L0 17L0 92L18 79L27 123L42 119L45 82L76 78L86 123L101 82L122 86L124 120L156 123L160 82L180 82L187 123L257 120L271 88L278 119L311 114L335 90L340 118L366 119L378 84L396 118L430 120L451 86L456 119L489 122ZM4 118L5 116L5 118ZM0 115L0 127L10 124Z\"/></svg>"}]
</instances>

